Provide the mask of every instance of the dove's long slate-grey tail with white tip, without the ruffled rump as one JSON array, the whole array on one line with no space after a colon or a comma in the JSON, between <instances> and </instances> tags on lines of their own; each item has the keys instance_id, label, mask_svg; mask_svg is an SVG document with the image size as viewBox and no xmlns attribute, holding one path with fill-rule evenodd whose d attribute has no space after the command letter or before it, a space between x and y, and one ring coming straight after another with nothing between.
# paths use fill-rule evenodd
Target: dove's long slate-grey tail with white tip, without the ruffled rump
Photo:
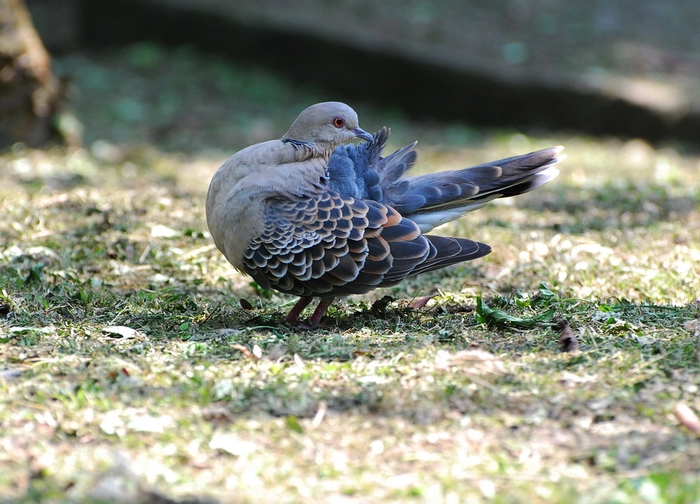
<instances>
[{"instance_id":1,"label":"dove's long slate-grey tail with white tip, without the ruffled rump","mask_svg":"<svg viewBox=\"0 0 700 504\"><path fill-rule=\"evenodd\" d=\"M563 147L552 147L492 163L405 178L384 188L386 202L416 222L422 232L481 208L496 198L523 194L558 174Z\"/></svg>"}]
</instances>

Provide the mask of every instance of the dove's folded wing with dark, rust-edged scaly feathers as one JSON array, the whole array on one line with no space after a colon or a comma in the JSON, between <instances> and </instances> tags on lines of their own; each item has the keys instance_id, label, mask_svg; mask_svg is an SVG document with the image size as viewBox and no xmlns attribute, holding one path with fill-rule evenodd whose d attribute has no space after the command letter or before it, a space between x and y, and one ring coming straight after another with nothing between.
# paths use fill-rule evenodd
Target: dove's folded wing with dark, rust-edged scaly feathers
<instances>
[{"instance_id":1,"label":"dove's folded wing with dark, rust-edged scaly feathers","mask_svg":"<svg viewBox=\"0 0 700 504\"><path fill-rule=\"evenodd\" d=\"M424 236L390 206L331 191L270 201L244 270L263 288L325 297L395 285L489 251L472 240Z\"/></svg>"}]
</instances>

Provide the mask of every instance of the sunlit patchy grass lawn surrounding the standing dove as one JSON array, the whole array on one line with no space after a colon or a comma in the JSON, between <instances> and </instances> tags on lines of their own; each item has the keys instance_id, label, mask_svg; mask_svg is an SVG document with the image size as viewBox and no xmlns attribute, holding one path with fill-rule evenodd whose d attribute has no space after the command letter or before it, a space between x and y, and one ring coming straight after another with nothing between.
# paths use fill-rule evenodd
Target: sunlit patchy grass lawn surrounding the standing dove
<instances>
[{"instance_id":1,"label":"sunlit patchy grass lawn surrounding the standing dove","mask_svg":"<svg viewBox=\"0 0 700 504\"><path fill-rule=\"evenodd\" d=\"M393 146L420 138L426 170L558 143L569 159L445 229L487 258L302 331L293 299L215 250L203 200L230 152L332 97L156 46L59 63L87 147L0 157L3 500L700 499L700 444L674 415L700 410L696 155L357 104Z\"/></svg>"}]
</instances>

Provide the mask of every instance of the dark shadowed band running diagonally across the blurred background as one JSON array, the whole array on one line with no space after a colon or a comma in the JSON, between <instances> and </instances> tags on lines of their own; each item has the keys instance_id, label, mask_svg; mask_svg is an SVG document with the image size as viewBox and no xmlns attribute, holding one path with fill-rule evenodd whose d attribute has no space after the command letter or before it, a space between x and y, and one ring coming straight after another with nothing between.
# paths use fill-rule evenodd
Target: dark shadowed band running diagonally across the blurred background
<instances>
[{"instance_id":1,"label":"dark shadowed band running diagonally across the blurred background","mask_svg":"<svg viewBox=\"0 0 700 504\"><path fill-rule=\"evenodd\" d=\"M77 11L83 47L145 40L190 44L274 68L300 83L322 85L341 100L396 105L414 119L698 143L698 113L671 116L575 84L496 77L353 44L351 37L344 43L172 2L77 0Z\"/></svg>"}]
</instances>

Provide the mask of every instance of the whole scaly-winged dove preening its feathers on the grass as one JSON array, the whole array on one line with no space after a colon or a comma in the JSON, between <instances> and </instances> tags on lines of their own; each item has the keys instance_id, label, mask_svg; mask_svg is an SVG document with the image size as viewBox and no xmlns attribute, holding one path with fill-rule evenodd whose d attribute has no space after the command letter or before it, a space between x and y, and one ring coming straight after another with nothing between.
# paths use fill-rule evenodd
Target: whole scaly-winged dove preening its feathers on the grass
<instances>
[{"instance_id":1,"label":"whole scaly-winged dove preening its feathers on the grass","mask_svg":"<svg viewBox=\"0 0 700 504\"><path fill-rule=\"evenodd\" d=\"M338 296L487 255L485 243L428 233L546 184L565 157L558 146L408 177L416 142L383 156L390 132L367 133L344 103L317 103L280 139L243 148L212 177L205 210L216 247L261 288L299 296L288 322L301 325L315 298L307 327Z\"/></svg>"}]
</instances>

